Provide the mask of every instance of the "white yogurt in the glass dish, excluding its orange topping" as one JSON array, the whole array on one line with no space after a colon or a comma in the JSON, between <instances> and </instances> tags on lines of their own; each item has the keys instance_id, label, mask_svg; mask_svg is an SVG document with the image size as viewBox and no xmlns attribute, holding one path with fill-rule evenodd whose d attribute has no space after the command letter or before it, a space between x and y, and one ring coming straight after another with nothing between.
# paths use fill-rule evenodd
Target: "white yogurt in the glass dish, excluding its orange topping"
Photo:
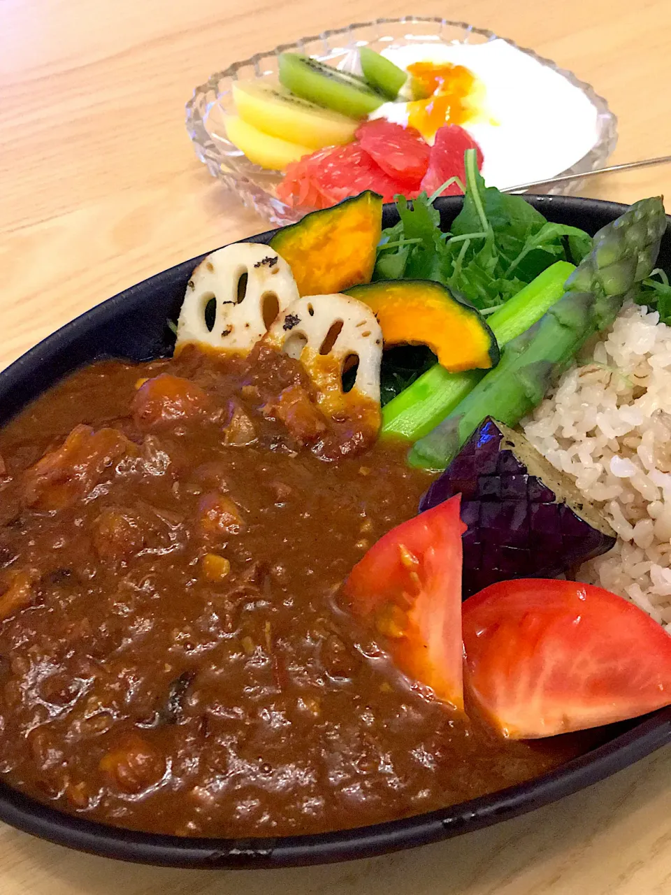
<instances>
[{"instance_id":1,"label":"white yogurt in the glass dish, excluding its orange topping","mask_svg":"<svg viewBox=\"0 0 671 895\"><path fill-rule=\"evenodd\" d=\"M450 62L477 76L486 90L484 114L463 127L480 144L485 180L499 189L561 174L599 139L597 109L582 90L505 40L389 47L382 55L403 69ZM408 110L385 103L370 117L407 124Z\"/></svg>"}]
</instances>

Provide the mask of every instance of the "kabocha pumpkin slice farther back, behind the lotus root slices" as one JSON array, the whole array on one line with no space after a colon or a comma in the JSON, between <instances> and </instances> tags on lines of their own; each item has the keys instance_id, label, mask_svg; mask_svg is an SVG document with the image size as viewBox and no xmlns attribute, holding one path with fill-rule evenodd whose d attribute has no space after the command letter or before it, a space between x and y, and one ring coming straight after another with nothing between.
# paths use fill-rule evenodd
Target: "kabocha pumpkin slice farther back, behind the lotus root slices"
<instances>
[{"instance_id":1,"label":"kabocha pumpkin slice farther back, behind the lotus root slices","mask_svg":"<svg viewBox=\"0 0 671 895\"><path fill-rule=\"evenodd\" d=\"M284 227L270 246L292 269L301 295L334 294L370 282L381 233L382 199L367 191Z\"/></svg>"}]
</instances>

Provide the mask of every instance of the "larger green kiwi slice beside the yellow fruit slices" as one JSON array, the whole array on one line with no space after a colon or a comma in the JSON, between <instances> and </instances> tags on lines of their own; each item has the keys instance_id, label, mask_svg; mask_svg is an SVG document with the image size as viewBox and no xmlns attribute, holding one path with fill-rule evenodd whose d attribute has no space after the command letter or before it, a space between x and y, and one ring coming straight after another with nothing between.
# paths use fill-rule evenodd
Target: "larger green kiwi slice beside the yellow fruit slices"
<instances>
[{"instance_id":1,"label":"larger green kiwi slice beside the yellow fruit slices","mask_svg":"<svg viewBox=\"0 0 671 895\"><path fill-rule=\"evenodd\" d=\"M280 54L279 80L297 97L352 118L365 118L385 101L363 78L298 53Z\"/></svg>"}]
</instances>

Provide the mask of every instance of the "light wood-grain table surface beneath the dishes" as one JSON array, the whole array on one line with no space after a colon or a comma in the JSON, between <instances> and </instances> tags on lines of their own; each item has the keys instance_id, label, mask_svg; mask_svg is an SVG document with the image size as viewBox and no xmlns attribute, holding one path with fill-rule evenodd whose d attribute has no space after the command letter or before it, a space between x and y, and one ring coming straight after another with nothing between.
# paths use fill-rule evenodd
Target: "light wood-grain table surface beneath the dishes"
<instances>
[{"instance_id":1,"label":"light wood-grain table surface beneath the dishes","mask_svg":"<svg viewBox=\"0 0 671 895\"><path fill-rule=\"evenodd\" d=\"M264 229L183 125L193 87L259 49L402 0L0 0L0 364L150 274ZM416 0L549 56L619 117L614 161L671 151L668 0ZM671 194L671 166L586 195ZM669 205L667 204L667 208ZM123 865L0 827L2 895L653 895L671 891L671 750L471 836L349 865L192 872Z\"/></svg>"}]
</instances>

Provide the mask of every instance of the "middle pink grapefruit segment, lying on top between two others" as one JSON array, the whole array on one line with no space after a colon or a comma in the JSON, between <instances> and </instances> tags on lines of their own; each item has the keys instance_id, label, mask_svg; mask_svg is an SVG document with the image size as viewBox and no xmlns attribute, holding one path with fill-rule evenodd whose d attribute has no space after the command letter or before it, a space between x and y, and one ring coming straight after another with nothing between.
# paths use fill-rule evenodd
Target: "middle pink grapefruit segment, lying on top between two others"
<instances>
[{"instance_id":1,"label":"middle pink grapefruit segment, lying on top between two others","mask_svg":"<svg viewBox=\"0 0 671 895\"><path fill-rule=\"evenodd\" d=\"M365 122L355 134L361 149L395 181L419 190L429 167L430 147L414 127L378 118Z\"/></svg>"}]
</instances>

